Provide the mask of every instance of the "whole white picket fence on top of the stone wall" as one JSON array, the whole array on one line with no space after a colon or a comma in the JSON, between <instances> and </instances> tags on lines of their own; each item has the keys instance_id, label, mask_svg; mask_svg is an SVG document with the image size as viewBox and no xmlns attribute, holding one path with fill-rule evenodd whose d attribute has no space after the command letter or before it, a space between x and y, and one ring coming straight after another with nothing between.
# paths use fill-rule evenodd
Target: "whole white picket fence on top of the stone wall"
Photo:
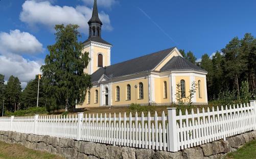
<instances>
[{"instance_id":1,"label":"whole white picket fence on top of the stone wall","mask_svg":"<svg viewBox=\"0 0 256 159\"><path fill-rule=\"evenodd\" d=\"M1 117L0 130L176 152L256 130L256 101L211 111L197 109L191 114L180 111L179 115L176 108L168 108L167 116L155 112L154 116L78 113L66 117Z\"/></svg>"}]
</instances>

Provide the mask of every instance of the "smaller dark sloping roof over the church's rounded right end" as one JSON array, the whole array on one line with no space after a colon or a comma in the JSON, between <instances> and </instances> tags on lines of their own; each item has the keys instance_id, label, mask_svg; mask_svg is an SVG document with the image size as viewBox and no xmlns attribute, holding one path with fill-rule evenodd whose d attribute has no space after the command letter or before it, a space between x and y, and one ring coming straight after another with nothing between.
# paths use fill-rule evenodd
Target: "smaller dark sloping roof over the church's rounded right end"
<instances>
[{"instance_id":1,"label":"smaller dark sloping roof over the church's rounded right end","mask_svg":"<svg viewBox=\"0 0 256 159\"><path fill-rule=\"evenodd\" d=\"M203 70L202 68L196 66L194 63L184 59L181 56L174 56L172 57L165 66L163 66L160 71L184 71L184 70L194 70L194 71L203 71L206 72L205 70Z\"/></svg>"}]
</instances>

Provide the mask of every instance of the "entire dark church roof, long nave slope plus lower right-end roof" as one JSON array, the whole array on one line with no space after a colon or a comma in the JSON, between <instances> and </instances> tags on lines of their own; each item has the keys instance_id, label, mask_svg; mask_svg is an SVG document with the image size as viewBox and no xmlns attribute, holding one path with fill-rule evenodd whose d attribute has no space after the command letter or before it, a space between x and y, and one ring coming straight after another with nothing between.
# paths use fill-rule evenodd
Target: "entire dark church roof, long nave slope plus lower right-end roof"
<instances>
[{"instance_id":1,"label":"entire dark church roof, long nave slope plus lower right-end roof","mask_svg":"<svg viewBox=\"0 0 256 159\"><path fill-rule=\"evenodd\" d=\"M103 74L109 78L136 74L153 70L175 47L151 53L145 56L133 58L124 62L116 63L105 68L101 68L91 74L91 81L98 81ZM174 56L160 69L160 72L168 70L195 70L206 72L183 57Z\"/></svg>"}]
</instances>

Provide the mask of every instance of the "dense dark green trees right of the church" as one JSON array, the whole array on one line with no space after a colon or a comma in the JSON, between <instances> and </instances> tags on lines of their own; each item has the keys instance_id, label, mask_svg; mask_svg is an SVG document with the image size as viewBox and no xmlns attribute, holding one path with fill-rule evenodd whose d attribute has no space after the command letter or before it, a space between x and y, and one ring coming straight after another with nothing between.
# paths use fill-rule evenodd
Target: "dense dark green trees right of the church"
<instances>
[{"instance_id":1,"label":"dense dark green trees right of the church","mask_svg":"<svg viewBox=\"0 0 256 159\"><path fill-rule=\"evenodd\" d=\"M256 93L256 39L251 34L231 39L212 59L207 54L201 58L199 66L208 72L208 100L224 98L226 102L235 94L235 99L242 102L244 98L248 101L248 94ZM246 82L249 92L245 97Z\"/></svg>"}]
</instances>

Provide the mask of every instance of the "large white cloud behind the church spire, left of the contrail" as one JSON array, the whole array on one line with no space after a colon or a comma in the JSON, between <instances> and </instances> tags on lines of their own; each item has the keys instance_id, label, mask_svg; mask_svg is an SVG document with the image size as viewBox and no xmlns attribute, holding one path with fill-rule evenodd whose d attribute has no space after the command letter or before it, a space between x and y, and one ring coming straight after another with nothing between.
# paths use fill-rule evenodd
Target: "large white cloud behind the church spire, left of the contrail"
<instances>
[{"instance_id":1,"label":"large white cloud behind the church spire, left of the contrail","mask_svg":"<svg viewBox=\"0 0 256 159\"><path fill-rule=\"evenodd\" d=\"M78 24L80 26L79 31L88 34L87 22L91 17L91 13L92 9L86 6L77 6L76 8L60 7L52 5L48 1L26 1L22 5L19 18L32 27L44 25L52 30L56 24ZM104 12L100 12L99 16L104 24L103 29L111 30L109 16Z\"/></svg>"}]
</instances>

